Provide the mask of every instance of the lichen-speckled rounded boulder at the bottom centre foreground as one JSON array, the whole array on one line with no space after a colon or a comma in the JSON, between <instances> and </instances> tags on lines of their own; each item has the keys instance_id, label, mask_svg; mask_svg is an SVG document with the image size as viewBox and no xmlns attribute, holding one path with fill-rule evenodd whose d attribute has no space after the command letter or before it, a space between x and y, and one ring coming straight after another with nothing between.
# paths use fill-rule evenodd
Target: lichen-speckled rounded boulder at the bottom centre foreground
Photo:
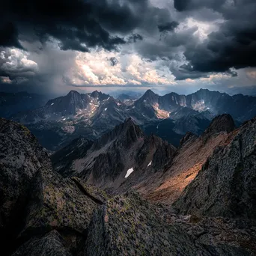
<instances>
[{"instance_id":1,"label":"lichen-speckled rounded boulder at the bottom centre foreground","mask_svg":"<svg viewBox=\"0 0 256 256\"><path fill-rule=\"evenodd\" d=\"M85 247L88 256L196 255L185 232L162 222L135 193L112 198L94 214Z\"/></svg>"}]
</instances>

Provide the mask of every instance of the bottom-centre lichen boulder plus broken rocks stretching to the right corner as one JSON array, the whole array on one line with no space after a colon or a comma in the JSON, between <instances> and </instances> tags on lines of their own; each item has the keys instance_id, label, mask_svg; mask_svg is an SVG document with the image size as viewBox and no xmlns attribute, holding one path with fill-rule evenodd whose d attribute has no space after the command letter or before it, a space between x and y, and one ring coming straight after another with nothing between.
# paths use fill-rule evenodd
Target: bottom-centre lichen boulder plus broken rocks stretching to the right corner
<instances>
[{"instance_id":1,"label":"bottom-centre lichen boulder plus broken rocks stretching to the right corner","mask_svg":"<svg viewBox=\"0 0 256 256\"><path fill-rule=\"evenodd\" d=\"M127 192L94 213L85 255L246 256L254 238L252 223L177 216Z\"/></svg>"}]
</instances>

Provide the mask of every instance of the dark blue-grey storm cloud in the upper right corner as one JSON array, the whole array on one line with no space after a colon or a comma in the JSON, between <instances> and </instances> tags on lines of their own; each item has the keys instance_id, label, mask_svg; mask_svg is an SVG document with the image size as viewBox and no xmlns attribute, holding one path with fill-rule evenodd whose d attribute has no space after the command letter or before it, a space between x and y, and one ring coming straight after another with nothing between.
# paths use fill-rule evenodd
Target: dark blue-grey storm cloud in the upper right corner
<instances>
[{"instance_id":1,"label":"dark blue-grey storm cloud in the upper right corner","mask_svg":"<svg viewBox=\"0 0 256 256\"><path fill-rule=\"evenodd\" d=\"M177 4L182 4L177 7ZM237 76L232 68L256 67L256 2L237 0L227 5L225 1L176 1L178 10L195 7L214 7L225 21L219 30L208 35L202 43L190 44L184 55L189 64L180 67L186 73L227 73ZM200 5L201 4L201 5ZM178 76L177 79L183 79Z\"/></svg>"}]
</instances>

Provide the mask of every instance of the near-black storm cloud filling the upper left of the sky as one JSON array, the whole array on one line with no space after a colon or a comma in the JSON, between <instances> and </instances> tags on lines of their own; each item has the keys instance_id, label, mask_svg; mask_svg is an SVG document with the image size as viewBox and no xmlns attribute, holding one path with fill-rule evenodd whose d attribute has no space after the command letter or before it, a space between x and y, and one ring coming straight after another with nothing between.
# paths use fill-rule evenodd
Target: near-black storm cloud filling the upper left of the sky
<instances>
[{"instance_id":1,"label":"near-black storm cloud filling the upper left of the sky","mask_svg":"<svg viewBox=\"0 0 256 256\"><path fill-rule=\"evenodd\" d=\"M34 35L40 40L55 37L61 49L86 52L100 46L111 50L125 43L116 33L130 32L138 22L128 4L117 1L10 0L1 4L0 24L12 25L4 27L0 43L18 46L21 34L28 40Z\"/></svg>"}]
</instances>

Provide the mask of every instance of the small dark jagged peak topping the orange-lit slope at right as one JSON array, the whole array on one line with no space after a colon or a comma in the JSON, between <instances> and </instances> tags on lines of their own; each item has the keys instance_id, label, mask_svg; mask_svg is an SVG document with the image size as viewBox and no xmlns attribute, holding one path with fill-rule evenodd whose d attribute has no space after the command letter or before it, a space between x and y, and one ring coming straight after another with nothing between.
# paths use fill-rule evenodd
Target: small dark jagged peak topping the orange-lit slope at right
<instances>
[{"instance_id":1,"label":"small dark jagged peak topping the orange-lit slope at right","mask_svg":"<svg viewBox=\"0 0 256 256\"><path fill-rule=\"evenodd\" d=\"M218 132L232 132L236 129L234 120L229 114L222 114L213 118L210 126L205 130L203 135L212 135Z\"/></svg>"}]
</instances>

